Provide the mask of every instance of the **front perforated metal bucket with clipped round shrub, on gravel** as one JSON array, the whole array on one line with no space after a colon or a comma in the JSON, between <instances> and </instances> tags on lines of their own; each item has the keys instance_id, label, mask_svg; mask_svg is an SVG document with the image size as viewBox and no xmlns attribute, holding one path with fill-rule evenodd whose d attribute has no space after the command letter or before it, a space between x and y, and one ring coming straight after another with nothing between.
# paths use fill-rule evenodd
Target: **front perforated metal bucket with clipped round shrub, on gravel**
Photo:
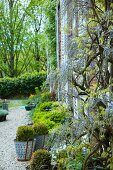
<instances>
[{"instance_id":1,"label":"front perforated metal bucket with clipped round shrub, on gravel","mask_svg":"<svg viewBox=\"0 0 113 170\"><path fill-rule=\"evenodd\" d=\"M27 161L31 159L35 145L34 129L31 126L19 126L14 140L17 160Z\"/></svg>"}]
</instances>

